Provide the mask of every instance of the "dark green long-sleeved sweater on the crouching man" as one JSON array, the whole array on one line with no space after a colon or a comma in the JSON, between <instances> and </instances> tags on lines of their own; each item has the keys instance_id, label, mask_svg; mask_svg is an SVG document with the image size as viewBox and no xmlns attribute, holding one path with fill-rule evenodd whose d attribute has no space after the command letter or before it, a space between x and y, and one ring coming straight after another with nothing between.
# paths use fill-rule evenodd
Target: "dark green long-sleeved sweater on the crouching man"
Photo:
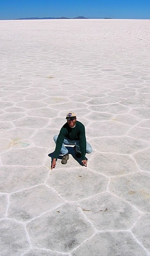
<instances>
[{"instance_id":1,"label":"dark green long-sleeved sweater on the crouching man","mask_svg":"<svg viewBox=\"0 0 150 256\"><path fill-rule=\"evenodd\" d=\"M56 148L54 153L54 158L57 158L60 154L60 149L64 142L64 139L68 138L69 140L79 140L79 146L81 151L81 159L85 160L86 155L86 134L85 134L85 127L84 125L76 121L75 127L71 128L67 123L63 125L60 129L60 133L56 140Z\"/></svg>"}]
</instances>

